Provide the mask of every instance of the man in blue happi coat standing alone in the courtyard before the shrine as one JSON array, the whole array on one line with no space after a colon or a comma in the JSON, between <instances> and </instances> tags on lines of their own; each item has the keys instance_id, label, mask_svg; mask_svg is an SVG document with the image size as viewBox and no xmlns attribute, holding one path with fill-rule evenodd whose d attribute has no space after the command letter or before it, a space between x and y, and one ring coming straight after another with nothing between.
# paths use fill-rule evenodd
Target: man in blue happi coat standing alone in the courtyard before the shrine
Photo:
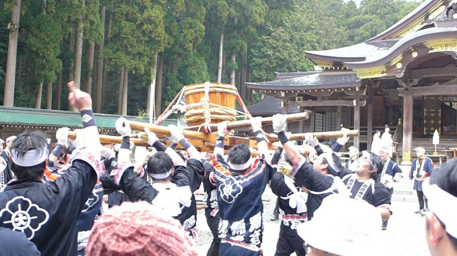
<instances>
[{"instance_id":1,"label":"man in blue happi coat standing alone in the courtyard before the shrine","mask_svg":"<svg viewBox=\"0 0 457 256\"><path fill-rule=\"evenodd\" d=\"M414 190L417 192L417 199L419 200L419 209L414 211L414 213L419 214L420 210L427 207L427 198L423 196L422 192L422 182L425 178L432 175L433 169L435 168L432 159L425 156L425 149L422 147L417 147L414 149L416 151L417 158L413 160L411 165L411 170L409 172L409 179L414 178Z\"/></svg>"}]
</instances>

